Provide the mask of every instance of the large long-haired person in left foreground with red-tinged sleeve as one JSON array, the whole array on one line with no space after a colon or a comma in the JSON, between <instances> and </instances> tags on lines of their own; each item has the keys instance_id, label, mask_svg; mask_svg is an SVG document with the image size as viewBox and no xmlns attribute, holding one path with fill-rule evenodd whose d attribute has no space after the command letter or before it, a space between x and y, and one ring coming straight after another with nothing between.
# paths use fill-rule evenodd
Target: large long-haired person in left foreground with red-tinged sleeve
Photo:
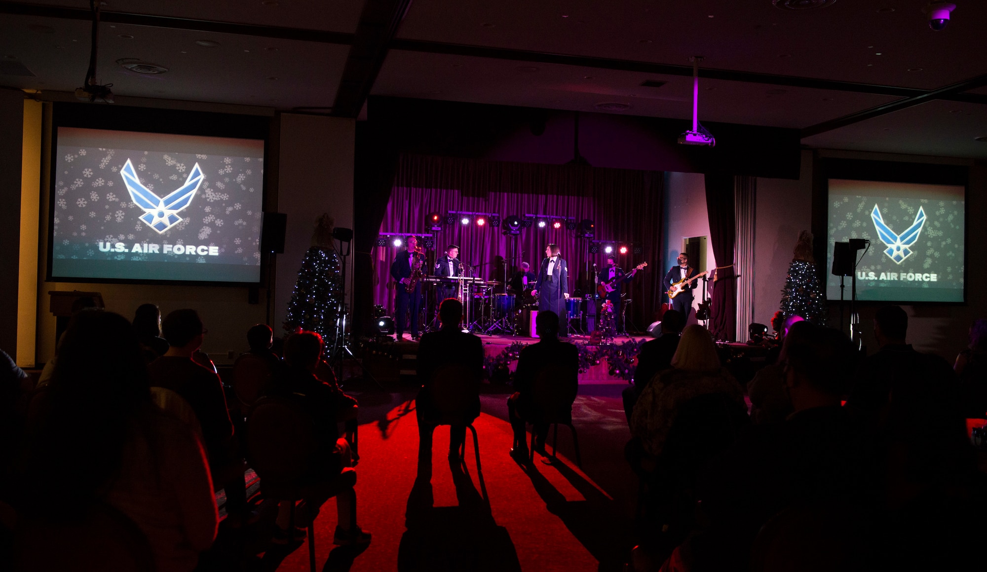
<instances>
[{"instance_id":1,"label":"large long-haired person in left foreground with red-tinged sleeve","mask_svg":"<svg viewBox=\"0 0 987 572\"><path fill-rule=\"evenodd\" d=\"M215 496L200 443L148 387L130 322L74 317L33 423L19 508L72 522L108 502L147 536L159 572L188 572L215 537Z\"/></svg>"}]
</instances>

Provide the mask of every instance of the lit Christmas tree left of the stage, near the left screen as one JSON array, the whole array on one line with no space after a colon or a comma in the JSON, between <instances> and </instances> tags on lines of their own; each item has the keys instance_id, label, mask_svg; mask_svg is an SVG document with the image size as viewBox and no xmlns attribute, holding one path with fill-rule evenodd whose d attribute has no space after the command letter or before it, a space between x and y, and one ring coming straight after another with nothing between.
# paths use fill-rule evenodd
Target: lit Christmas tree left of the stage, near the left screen
<instances>
[{"instance_id":1,"label":"lit Christmas tree left of the stage, near the left screen","mask_svg":"<svg viewBox=\"0 0 987 572\"><path fill-rule=\"evenodd\" d=\"M316 221L312 248L305 252L291 292L283 324L287 333L298 329L316 331L322 335L324 346L334 345L343 311L341 270L333 241L333 219L323 214Z\"/></svg>"}]
</instances>

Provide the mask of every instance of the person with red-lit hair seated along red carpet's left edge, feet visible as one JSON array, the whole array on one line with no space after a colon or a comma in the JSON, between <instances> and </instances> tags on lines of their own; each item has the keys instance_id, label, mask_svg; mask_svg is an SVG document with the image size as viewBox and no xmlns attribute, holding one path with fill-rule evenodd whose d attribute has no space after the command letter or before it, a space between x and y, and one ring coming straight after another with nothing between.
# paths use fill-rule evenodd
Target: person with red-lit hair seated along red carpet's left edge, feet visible
<instances>
[{"instance_id":1,"label":"person with red-lit hair seated along red carpet's left edge, feet visible","mask_svg":"<svg viewBox=\"0 0 987 572\"><path fill-rule=\"evenodd\" d=\"M331 483L340 475L343 468L352 465L349 444L340 438L337 428L337 411L341 397L346 397L339 388L331 386L315 377L316 365L322 355L322 336L314 331L299 331L288 336L284 342L284 364L281 374L267 388L265 394L287 397L296 400L315 421L316 438L319 442L317 453L318 474L316 478ZM365 544L370 541L370 533L356 525L356 492L348 488L337 495L337 527L333 540L337 544ZM319 507L326 502L328 495L317 495L305 499L309 520L314 520ZM290 508L290 505L287 505ZM288 531L289 513L283 510L277 518L278 529L274 541L285 543Z\"/></svg>"}]
</instances>

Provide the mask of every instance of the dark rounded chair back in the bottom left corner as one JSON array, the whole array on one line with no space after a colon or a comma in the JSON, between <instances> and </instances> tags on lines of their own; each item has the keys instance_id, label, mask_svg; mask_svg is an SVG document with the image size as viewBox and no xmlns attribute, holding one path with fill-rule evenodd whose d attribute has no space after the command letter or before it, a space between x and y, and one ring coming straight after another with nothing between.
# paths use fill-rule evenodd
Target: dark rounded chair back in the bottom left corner
<instances>
[{"instance_id":1,"label":"dark rounded chair back in the bottom left corner","mask_svg":"<svg viewBox=\"0 0 987 572\"><path fill-rule=\"evenodd\" d=\"M151 544L125 514L104 502L66 507L69 522L27 518L14 539L14 570L146 572L155 569Z\"/></svg>"}]
</instances>

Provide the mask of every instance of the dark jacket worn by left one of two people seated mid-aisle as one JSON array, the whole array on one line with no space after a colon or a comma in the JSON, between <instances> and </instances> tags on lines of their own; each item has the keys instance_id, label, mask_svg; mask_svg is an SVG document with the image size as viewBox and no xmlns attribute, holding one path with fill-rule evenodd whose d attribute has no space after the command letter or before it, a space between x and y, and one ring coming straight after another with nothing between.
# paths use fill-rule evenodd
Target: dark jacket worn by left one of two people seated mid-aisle
<instances>
[{"instance_id":1,"label":"dark jacket worn by left one of two people seated mid-aisle","mask_svg":"<svg viewBox=\"0 0 987 572\"><path fill-rule=\"evenodd\" d=\"M444 365L457 364L465 366L473 374L473 379L464 380L464 383L479 384L484 374L483 342L472 333L459 331L457 327L443 327L421 336L417 362L421 390L418 392L416 406L425 418L435 417L438 412L432 404L429 383L432 374ZM476 402L471 403L466 416L470 419L480 416L479 394Z\"/></svg>"}]
</instances>

